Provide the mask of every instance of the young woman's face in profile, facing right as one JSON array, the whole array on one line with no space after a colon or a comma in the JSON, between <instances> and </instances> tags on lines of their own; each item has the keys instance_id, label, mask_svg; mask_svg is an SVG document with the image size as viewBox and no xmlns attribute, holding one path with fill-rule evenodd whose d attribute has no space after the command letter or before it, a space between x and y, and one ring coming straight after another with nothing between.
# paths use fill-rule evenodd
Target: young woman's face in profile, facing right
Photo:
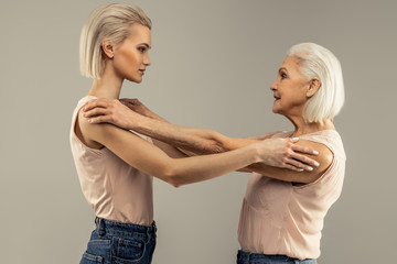
<instances>
[{"instance_id":1,"label":"young woman's face in profile, facing right","mask_svg":"<svg viewBox=\"0 0 397 264\"><path fill-rule=\"evenodd\" d=\"M144 70L150 65L150 29L138 23L132 24L130 35L115 47L112 65L116 75L122 79L141 82Z\"/></svg>"}]
</instances>

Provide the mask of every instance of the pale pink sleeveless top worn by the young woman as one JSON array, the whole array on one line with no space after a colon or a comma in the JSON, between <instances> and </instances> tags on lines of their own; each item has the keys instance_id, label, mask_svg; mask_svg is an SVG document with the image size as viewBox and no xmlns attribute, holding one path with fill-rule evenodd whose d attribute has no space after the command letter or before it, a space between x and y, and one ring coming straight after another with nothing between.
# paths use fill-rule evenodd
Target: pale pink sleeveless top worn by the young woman
<instances>
[{"instance_id":1,"label":"pale pink sleeveless top worn by the young woman","mask_svg":"<svg viewBox=\"0 0 397 264\"><path fill-rule=\"evenodd\" d=\"M99 218L151 226L152 176L131 167L106 147L94 150L86 146L75 133L79 109L94 98L87 96L78 101L73 113L69 134L72 154L83 194ZM152 143L150 138L138 135Z\"/></svg>"}]
</instances>

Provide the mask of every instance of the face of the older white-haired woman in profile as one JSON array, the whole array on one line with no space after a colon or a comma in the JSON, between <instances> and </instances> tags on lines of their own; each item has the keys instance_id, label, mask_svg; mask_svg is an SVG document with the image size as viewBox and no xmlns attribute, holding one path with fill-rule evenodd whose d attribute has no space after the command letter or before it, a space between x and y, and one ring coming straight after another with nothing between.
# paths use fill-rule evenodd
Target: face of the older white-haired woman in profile
<instances>
[{"instance_id":1,"label":"face of the older white-haired woman in profile","mask_svg":"<svg viewBox=\"0 0 397 264\"><path fill-rule=\"evenodd\" d=\"M287 116L302 116L308 101L310 80L300 72L298 58L287 57L281 64L276 81L270 86L275 102L272 111Z\"/></svg>"}]
</instances>

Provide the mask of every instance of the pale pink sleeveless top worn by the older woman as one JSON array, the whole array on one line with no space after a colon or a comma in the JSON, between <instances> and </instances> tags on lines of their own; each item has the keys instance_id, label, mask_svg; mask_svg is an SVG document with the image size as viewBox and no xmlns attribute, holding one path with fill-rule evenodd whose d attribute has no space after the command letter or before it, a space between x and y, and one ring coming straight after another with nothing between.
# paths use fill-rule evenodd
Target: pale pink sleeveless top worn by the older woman
<instances>
[{"instance_id":1,"label":"pale pink sleeveless top worn by the older woman","mask_svg":"<svg viewBox=\"0 0 397 264\"><path fill-rule=\"evenodd\" d=\"M291 133L279 133L287 138ZM249 178L243 200L238 241L243 251L318 258L324 218L341 195L345 152L336 131L299 136L324 144L333 153L328 170L314 183L293 186L257 173Z\"/></svg>"}]
</instances>

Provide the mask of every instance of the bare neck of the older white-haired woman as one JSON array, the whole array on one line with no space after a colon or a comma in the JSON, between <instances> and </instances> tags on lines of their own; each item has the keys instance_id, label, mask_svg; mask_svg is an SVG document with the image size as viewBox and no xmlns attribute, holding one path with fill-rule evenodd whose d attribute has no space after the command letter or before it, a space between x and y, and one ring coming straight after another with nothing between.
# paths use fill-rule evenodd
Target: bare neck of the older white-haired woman
<instances>
[{"instance_id":1,"label":"bare neck of the older white-haired woman","mask_svg":"<svg viewBox=\"0 0 397 264\"><path fill-rule=\"evenodd\" d=\"M335 130L333 121L331 119L325 119L322 122L307 123L302 117L287 117L294 127L292 136L300 136L303 134L309 134L322 130Z\"/></svg>"}]
</instances>

